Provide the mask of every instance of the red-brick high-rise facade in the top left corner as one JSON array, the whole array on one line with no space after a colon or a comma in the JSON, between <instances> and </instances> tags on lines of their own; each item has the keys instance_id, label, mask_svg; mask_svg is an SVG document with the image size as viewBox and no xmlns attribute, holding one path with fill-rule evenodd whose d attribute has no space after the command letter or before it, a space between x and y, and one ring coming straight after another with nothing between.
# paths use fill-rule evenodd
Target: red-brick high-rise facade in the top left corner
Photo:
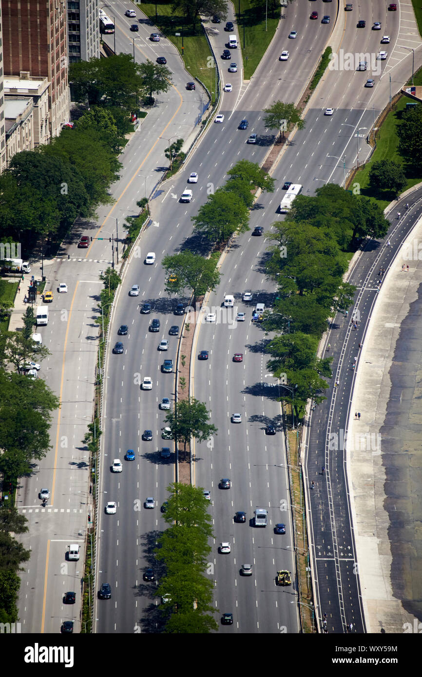
<instances>
[{"instance_id":1,"label":"red-brick high-rise facade in the top left corner","mask_svg":"<svg viewBox=\"0 0 422 677\"><path fill-rule=\"evenodd\" d=\"M1 0L3 70L49 82L49 135L60 134L69 119L65 0Z\"/></svg>"}]
</instances>

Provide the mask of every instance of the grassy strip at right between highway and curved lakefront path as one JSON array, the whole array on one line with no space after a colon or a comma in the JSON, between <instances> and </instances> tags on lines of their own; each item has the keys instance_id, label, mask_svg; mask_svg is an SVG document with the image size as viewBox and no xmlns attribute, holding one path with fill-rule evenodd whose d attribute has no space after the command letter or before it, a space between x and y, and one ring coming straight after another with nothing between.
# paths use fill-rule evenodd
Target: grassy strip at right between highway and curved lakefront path
<instances>
[{"instance_id":1,"label":"grassy strip at right between highway and curved lakefront path","mask_svg":"<svg viewBox=\"0 0 422 677\"><path fill-rule=\"evenodd\" d=\"M415 74L414 82L415 85L422 84L422 69ZM413 102L413 99L402 96L398 101L396 110L387 115L383 125L380 127L379 132L377 133L377 148L371 157L370 162L366 164L364 169L358 171L354 177L353 183L360 184L361 194L378 202L379 206L381 206L381 209L385 209L385 207L387 207L389 203L394 200L396 195L392 191L377 191L376 189L369 188L369 172L371 171L373 162L378 162L379 160L394 160L394 162L398 162L400 165L405 165L402 157L398 153L398 135L396 130L398 125L400 125L400 115L402 110L406 108L406 104L411 102ZM422 177L415 176L410 177L406 175L406 178L407 184L402 192L408 190L408 188L412 188L413 185L416 185L422 180ZM350 188L352 188L352 186L350 186Z\"/></svg>"}]
</instances>

